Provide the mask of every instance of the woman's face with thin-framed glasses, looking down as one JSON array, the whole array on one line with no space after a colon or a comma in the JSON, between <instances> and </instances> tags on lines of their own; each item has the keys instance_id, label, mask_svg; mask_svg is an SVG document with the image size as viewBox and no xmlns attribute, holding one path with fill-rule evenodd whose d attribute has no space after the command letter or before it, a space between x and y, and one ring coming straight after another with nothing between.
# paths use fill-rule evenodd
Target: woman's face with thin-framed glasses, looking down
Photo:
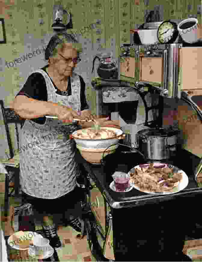
<instances>
[{"instance_id":1,"label":"woman's face with thin-framed glasses, looking down","mask_svg":"<svg viewBox=\"0 0 202 262\"><path fill-rule=\"evenodd\" d=\"M66 44L63 51L58 51L57 60L52 66L60 76L69 77L76 67L72 59L77 57L77 50L72 48L72 44Z\"/></svg>"}]
</instances>

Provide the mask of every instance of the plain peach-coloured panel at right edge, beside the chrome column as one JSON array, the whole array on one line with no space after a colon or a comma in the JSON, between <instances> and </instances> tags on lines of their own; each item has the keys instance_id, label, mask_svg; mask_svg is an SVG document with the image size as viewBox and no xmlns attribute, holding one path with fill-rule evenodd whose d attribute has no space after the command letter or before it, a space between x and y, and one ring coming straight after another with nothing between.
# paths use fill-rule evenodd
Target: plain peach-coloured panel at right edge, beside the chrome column
<instances>
[{"instance_id":1,"label":"plain peach-coloured panel at right edge, beside the chrome column","mask_svg":"<svg viewBox=\"0 0 202 262\"><path fill-rule=\"evenodd\" d=\"M181 89L202 89L202 47L182 47L179 52Z\"/></svg>"}]
</instances>

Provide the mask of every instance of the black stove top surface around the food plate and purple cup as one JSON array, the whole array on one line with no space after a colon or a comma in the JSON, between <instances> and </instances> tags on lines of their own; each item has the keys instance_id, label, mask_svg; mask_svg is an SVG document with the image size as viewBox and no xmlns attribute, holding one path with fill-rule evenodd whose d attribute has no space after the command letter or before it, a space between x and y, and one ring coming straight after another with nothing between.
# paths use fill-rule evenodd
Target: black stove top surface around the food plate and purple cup
<instances>
[{"instance_id":1,"label":"black stove top surface around the food plate and purple cup","mask_svg":"<svg viewBox=\"0 0 202 262\"><path fill-rule=\"evenodd\" d=\"M127 153L124 153L123 151ZM199 164L200 158L192 155L186 150L178 151L176 153L175 158L158 161L161 163L172 164L182 169L187 174L189 179L188 186L178 193L170 195L154 195L141 192L135 188L133 188L129 192L117 193L109 188L110 183L113 181L112 174L115 171L128 173L131 168L139 164L144 164L146 162L148 161L145 161L143 157L138 153L132 153L130 152L130 150L127 151L126 147L119 146L115 153L104 157L103 165L91 165L92 171L98 181L98 184L100 185L99 189L102 192L106 192L106 194L111 199L109 200L109 202L111 201L112 206L117 204L119 205L119 207L117 208L120 208L120 205L123 205L122 207L125 207L125 205L130 206L134 205L134 202L139 202L139 204L145 204L146 202L149 203L149 200L151 200L154 203L158 201L158 199L172 199L177 195L179 196L182 194L189 194L192 192L202 193L202 189L197 186L197 183L194 179L194 170L195 167Z\"/></svg>"}]
</instances>

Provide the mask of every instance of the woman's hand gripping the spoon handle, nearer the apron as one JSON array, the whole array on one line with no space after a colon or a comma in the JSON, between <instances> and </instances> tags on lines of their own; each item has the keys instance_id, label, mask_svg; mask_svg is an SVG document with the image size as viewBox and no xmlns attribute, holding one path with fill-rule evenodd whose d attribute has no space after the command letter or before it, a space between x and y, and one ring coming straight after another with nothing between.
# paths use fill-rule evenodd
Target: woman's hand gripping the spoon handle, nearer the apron
<instances>
[{"instance_id":1,"label":"woman's hand gripping the spoon handle, nearer the apron","mask_svg":"<svg viewBox=\"0 0 202 262\"><path fill-rule=\"evenodd\" d=\"M63 105L57 106L56 116L59 120L63 121L63 123L72 122L74 118L81 119L81 116L76 111Z\"/></svg>"}]
</instances>

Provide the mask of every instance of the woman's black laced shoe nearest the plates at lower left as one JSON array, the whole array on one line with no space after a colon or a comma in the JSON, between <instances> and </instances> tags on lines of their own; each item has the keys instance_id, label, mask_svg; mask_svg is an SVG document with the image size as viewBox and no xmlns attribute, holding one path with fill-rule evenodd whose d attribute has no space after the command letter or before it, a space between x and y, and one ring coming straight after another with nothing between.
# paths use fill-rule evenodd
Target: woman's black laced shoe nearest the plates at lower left
<instances>
[{"instance_id":1,"label":"woman's black laced shoe nearest the plates at lower left","mask_svg":"<svg viewBox=\"0 0 202 262\"><path fill-rule=\"evenodd\" d=\"M53 248L59 248L62 246L60 242L60 238L57 235L57 230L56 230L55 225L43 226L43 231L44 231L45 237L49 239L50 245Z\"/></svg>"}]
</instances>

